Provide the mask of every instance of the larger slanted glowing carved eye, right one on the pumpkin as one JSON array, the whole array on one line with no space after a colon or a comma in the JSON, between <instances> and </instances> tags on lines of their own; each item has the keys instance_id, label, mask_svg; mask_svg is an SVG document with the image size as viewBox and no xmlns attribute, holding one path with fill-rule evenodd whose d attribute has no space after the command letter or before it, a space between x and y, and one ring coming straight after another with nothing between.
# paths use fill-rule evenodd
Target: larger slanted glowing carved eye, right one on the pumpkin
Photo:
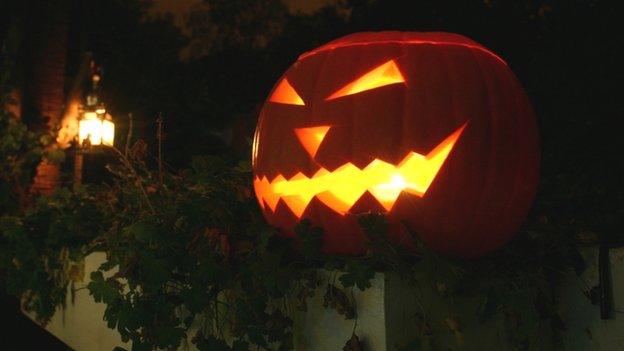
<instances>
[{"instance_id":1,"label":"larger slanted glowing carved eye, right one on the pumpkin","mask_svg":"<svg viewBox=\"0 0 624 351\"><path fill-rule=\"evenodd\" d=\"M326 100L361 93L363 91L383 87L390 84L404 83L405 78L394 60L377 66L353 82L331 94Z\"/></svg>"}]
</instances>

